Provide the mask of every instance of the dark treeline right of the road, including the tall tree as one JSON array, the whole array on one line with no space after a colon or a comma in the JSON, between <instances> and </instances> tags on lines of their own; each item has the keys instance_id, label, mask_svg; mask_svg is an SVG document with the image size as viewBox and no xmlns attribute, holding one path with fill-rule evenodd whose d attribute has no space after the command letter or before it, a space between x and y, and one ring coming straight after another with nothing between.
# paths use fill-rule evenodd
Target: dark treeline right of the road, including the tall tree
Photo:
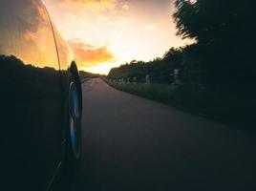
<instances>
[{"instance_id":1,"label":"dark treeline right of the road, including the tall tree","mask_svg":"<svg viewBox=\"0 0 256 191\"><path fill-rule=\"evenodd\" d=\"M132 61L112 69L109 78L145 75L153 83L172 83L181 69L175 102L185 108L236 124L255 124L255 2L249 0L176 0L172 15L177 35L195 43L171 48L150 62ZM171 42L170 42L171 44Z\"/></svg>"}]
</instances>

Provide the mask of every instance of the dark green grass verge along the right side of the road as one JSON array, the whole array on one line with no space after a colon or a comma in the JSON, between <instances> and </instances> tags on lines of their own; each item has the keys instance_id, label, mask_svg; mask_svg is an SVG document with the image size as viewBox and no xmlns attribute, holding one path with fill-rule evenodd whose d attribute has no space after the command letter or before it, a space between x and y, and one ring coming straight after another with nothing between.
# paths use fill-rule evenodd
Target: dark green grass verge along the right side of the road
<instances>
[{"instance_id":1,"label":"dark green grass verge along the right side of the road","mask_svg":"<svg viewBox=\"0 0 256 191\"><path fill-rule=\"evenodd\" d=\"M109 83L109 85L117 90L160 101L182 111L212 118L226 124L248 126L247 124L252 123L250 121L251 112L245 113L243 101L234 96L205 94L203 88L196 85L174 86L144 83Z\"/></svg>"}]
</instances>

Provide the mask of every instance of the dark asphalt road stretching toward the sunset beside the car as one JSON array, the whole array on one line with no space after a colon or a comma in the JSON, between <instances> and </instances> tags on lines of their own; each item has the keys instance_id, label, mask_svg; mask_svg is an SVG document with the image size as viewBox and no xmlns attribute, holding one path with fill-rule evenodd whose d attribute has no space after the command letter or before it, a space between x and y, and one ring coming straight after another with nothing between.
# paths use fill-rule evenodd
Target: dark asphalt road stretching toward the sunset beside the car
<instances>
[{"instance_id":1,"label":"dark asphalt road stretching toward the sunset beside the car","mask_svg":"<svg viewBox=\"0 0 256 191\"><path fill-rule=\"evenodd\" d=\"M256 190L255 133L83 84L83 160L72 190Z\"/></svg>"}]
</instances>

